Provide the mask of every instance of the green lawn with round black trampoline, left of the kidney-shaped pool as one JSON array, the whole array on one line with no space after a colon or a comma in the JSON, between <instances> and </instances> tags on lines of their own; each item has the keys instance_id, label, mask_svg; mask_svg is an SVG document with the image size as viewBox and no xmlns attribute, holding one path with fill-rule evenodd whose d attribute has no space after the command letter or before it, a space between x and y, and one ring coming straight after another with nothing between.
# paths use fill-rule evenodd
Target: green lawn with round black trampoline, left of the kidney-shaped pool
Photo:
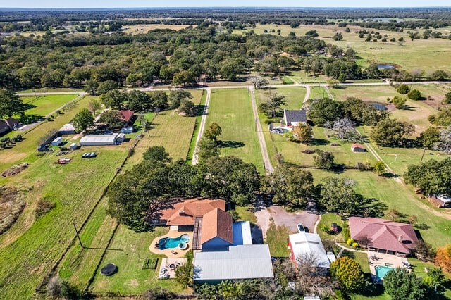
<instances>
[{"instance_id":1,"label":"green lawn with round black trampoline, left of the kidney-shaped pool","mask_svg":"<svg viewBox=\"0 0 451 300\"><path fill-rule=\"evenodd\" d=\"M166 227L156 227L153 232L133 232L123 225L118 227L116 235L106 251L101 265L114 263L118 267L116 274L106 277L96 274L92 283L92 292L116 292L120 294L141 294L151 287L163 287L173 292L184 291L174 280L159 280L161 258L164 256L149 251L152 240L168 232ZM144 258L159 258L156 270L142 270Z\"/></svg>"}]
</instances>

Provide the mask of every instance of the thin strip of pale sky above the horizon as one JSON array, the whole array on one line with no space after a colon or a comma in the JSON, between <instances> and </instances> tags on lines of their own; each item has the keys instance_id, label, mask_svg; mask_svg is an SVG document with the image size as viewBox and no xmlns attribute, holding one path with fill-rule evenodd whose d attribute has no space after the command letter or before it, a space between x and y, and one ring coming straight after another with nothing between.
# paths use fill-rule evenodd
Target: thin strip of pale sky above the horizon
<instances>
[{"instance_id":1,"label":"thin strip of pale sky above the horizon","mask_svg":"<svg viewBox=\"0 0 451 300\"><path fill-rule=\"evenodd\" d=\"M123 7L424 7L451 6L450 0L0 0L0 8L123 8Z\"/></svg>"}]
</instances>

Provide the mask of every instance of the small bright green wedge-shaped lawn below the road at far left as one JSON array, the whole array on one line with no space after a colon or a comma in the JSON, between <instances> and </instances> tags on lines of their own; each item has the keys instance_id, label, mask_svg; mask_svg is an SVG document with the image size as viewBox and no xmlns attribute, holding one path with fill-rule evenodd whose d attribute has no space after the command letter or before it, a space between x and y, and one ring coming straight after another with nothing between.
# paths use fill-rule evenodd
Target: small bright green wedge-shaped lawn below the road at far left
<instances>
[{"instance_id":1,"label":"small bright green wedge-shaped lawn below the road at far left","mask_svg":"<svg viewBox=\"0 0 451 300\"><path fill-rule=\"evenodd\" d=\"M20 97L23 103L31 108L25 111L27 115L37 115L44 117L45 115L55 111L64 104L77 97L76 94L70 95L47 95L47 96L27 96Z\"/></svg>"}]
</instances>

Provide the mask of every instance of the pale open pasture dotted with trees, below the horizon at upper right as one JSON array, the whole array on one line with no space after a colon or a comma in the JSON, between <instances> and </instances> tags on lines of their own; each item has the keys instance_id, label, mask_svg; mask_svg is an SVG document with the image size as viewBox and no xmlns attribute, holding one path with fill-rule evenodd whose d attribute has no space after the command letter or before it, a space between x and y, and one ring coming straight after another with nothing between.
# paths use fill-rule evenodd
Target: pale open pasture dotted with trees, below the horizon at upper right
<instances>
[{"instance_id":1,"label":"pale open pasture dotted with trees, below the horizon at upper right","mask_svg":"<svg viewBox=\"0 0 451 300\"><path fill-rule=\"evenodd\" d=\"M426 70L426 73L433 70L451 70L451 43L449 39L414 39L409 38L407 32L393 32L386 30L376 30L372 28L361 28L359 26L348 26L350 32L345 32L345 28L340 28L338 25L301 25L297 28L291 28L290 25L274 25L265 24L256 25L255 28L248 28L247 30L254 30L258 34L264 33L264 30L280 30L281 35L288 35L290 32L295 32L296 36L304 36L309 30L316 30L319 34L319 39L323 39L326 44L333 44L344 49L351 47L357 51L357 60L359 65L366 68L371 63L393 63L399 65L407 71L412 71L416 68ZM247 30L235 30L237 34L244 34ZM364 38L359 38L356 33L359 30L367 30L379 32L383 36L387 36L387 41L395 38L396 42L365 42ZM407 30L406 30L407 31ZM411 30L415 32L416 30ZM418 30L421 34L424 30ZM436 31L445 34L449 32L449 28L438 28ZM332 39L336 32L340 32L343 36L341 41L334 41ZM277 32L268 32L268 35L277 35ZM398 39L402 37L404 42L399 43Z\"/></svg>"}]
</instances>

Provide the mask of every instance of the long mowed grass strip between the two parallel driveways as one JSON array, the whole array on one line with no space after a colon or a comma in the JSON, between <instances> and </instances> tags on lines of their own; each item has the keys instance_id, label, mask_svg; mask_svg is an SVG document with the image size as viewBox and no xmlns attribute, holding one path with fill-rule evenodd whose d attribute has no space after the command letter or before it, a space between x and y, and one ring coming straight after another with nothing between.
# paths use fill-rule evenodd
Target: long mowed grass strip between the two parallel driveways
<instances>
[{"instance_id":1,"label":"long mowed grass strip between the two parallel driveways","mask_svg":"<svg viewBox=\"0 0 451 300\"><path fill-rule=\"evenodd\" d=\"M239 156L263 172L263 160L247 89L212 90L206 127L213 122L221 126L222 135L218 139L226 144L221 148L221 155Z\"/></svg>"}]
</instances>

